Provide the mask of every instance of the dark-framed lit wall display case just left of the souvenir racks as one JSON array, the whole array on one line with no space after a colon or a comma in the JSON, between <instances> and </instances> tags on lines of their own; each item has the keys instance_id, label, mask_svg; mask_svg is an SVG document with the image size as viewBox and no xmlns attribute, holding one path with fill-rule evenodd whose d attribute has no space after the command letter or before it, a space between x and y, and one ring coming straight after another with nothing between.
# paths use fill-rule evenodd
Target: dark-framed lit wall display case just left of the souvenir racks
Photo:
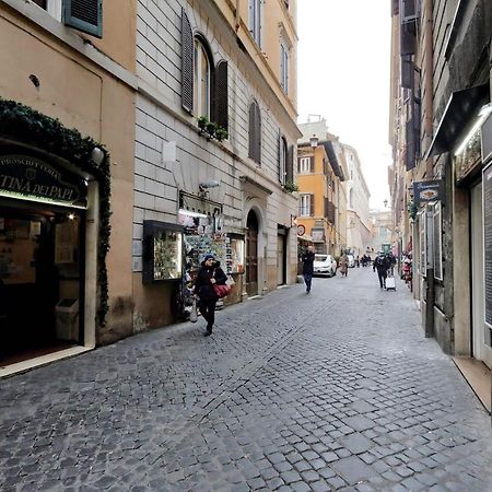
<instances>
[{"instance_id":1,"label":"dark-framed lit wall display case just left of the souvenir racks","mask_svg":"<svg viewBox=\"0 0 492 492\"><path fill-rule=\"evenodd\" d=\"M183 276L183 227L143 221L143 283L179 280Z\"/></svg>"}]
</instances>

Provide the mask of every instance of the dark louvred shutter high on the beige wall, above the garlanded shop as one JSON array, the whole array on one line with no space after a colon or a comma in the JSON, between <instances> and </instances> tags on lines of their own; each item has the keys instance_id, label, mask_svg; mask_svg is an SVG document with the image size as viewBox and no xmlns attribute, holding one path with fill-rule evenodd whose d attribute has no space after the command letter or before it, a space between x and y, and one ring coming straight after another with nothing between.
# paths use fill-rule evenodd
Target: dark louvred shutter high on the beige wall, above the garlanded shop
<instances>
[{"instance_id":1,"label":"dark louvred shutter high on the beige wall, above the garlanded shop","mask_svg":"<svg viewBox=\"0 0 492 492\"><path fill-rule=\"evenodd\" d=\"M63 24L103 37L103 0L65 0Z\"/></svg>"}]
</instances>

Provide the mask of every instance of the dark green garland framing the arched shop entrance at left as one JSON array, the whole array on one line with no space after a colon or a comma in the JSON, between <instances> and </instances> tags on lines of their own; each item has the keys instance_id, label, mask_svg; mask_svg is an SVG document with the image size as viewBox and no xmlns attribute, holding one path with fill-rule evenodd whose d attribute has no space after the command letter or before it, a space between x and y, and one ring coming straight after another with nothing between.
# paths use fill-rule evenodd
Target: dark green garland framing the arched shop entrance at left
<instances>
[{"instance_id":1,"label":"dark green garland framing the arched shop entrance at left","mask_svg":"<svg viewBox=\"0 0 492 492\"><path fill-rule=\"evenodd\" d=\"M97 321L106 324L108 304L108 281L106 255L110 236L110 166L109 153L101 143L90 137L82 137L78 130L66 128L58 119L50 118L15 101L0 97L0 136L24 142L58 155L81 171L94 176L99 184L99 236L97 248L97 283L99 289ZM101 164L92 160L92 151L98 148L104 153Z\"/></svg>"}]
</instances>

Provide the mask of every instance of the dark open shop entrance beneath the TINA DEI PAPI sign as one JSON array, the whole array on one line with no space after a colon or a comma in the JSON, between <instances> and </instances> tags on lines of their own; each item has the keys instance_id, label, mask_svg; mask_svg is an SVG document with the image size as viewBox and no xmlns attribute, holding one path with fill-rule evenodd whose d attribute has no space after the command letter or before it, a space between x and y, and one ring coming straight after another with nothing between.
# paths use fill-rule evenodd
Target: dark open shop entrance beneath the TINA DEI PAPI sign
<instances>
[{"instance_id":1,"label":"dark open shop entrance beneath the TINA DEI PAPI sign","mask_svg":"<svg viewBox=\"0 0 492 492\"><path fill-rule=\"evenodd\" d=\"M0 364L83 343L84 212L0 200Z\"/></svg>"}]
</instances>

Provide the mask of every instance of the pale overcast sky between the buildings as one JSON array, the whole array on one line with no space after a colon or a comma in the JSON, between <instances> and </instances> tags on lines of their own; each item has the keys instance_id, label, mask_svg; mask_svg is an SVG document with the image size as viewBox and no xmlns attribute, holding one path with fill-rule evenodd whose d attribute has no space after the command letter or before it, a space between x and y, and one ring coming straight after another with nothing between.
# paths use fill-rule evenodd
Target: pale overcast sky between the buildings
<instances>
[{"instance_id":1,"label":"pale overcast sky between the buildings","mask_svg":"<svg viewBox=\"0 0 492 492\"><path fill-rule=\"evenodd\" d=\"M298 122L321 115L358 150L372 208L389 200L390 3L298 0Z\"/></svg>"}]
</instances>

